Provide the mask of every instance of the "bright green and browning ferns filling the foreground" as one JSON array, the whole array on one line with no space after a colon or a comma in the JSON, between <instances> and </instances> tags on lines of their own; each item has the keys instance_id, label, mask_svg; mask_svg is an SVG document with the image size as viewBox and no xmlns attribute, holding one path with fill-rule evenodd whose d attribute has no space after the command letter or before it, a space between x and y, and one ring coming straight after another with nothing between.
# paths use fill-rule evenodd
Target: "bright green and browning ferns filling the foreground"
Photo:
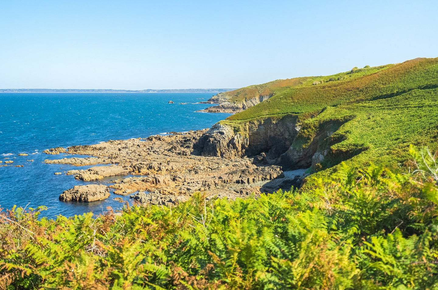
<instances>
[{"instance_id":1,"label":"bright green and browning ferns filling the foreground","mask_svg":"<svg viewBox=\"0 0 438 290\"><path fill-rule=\"evenodd\" d=\"M343 163L258 200L55 221L14 208L0 215L0 288L437 289L438 168L411 153L416 173Z\"/></svg>"}]
</instances>

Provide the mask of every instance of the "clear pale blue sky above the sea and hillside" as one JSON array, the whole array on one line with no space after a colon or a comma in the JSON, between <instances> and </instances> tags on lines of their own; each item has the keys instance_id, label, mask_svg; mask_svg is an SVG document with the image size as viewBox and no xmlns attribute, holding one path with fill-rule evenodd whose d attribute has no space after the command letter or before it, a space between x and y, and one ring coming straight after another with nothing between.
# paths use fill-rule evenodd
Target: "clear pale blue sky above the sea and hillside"
<instances>
[{"instance_id":1,"label":"clear pale blue sky above the sea and hillside","mask_svg":"<svg viewBox=\"0 0 438 290\"><path fill-rule=\"evenodd\" d=\"M0 0L0 89L239 88L438 57L438 1Z\"/></svg>"}]
</instances>

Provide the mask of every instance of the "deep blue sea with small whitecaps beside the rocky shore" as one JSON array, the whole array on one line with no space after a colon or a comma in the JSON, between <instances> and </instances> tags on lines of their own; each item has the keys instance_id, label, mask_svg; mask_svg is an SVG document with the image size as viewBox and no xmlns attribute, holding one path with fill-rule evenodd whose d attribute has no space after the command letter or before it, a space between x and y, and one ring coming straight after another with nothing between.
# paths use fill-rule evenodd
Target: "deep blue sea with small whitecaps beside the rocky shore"
<instances>
[{"instance_id":1,"label":"deep blue sea with small whitecaps beside the rocky shore","mask_svg":"<svg viewBox=\"0 0 438 290\"><path fill-rule=\"evenodd\" d=\"M211 96L211 93L1 93L0 160L3 163L0 165L5 165L7 160L14 163L0 167L0 207L45 205L49 210L43 215L48 217L90 211L99 214L108 206L123 207L113 200L120 197L113 193L106 200L92 203L59 201L64 190L93 183L75 180L73 175L67 176L64 172L91 166L45 164L44 159L64 156L47 155L42 151L209 128L230 115L196 113L209 105L195 103ZM170 100L175 104L168 104ZM19 153L28 156L18 156ZM74 156L84 157L66 157ZM27 161L32 159L33 162ZM23 167L15 167L17 165ZM54 175L55 172L63 174ZM114 177L95 183L112 179ZM129 200L129 197L122 198Z\"/></svg>"}]
</instances>

